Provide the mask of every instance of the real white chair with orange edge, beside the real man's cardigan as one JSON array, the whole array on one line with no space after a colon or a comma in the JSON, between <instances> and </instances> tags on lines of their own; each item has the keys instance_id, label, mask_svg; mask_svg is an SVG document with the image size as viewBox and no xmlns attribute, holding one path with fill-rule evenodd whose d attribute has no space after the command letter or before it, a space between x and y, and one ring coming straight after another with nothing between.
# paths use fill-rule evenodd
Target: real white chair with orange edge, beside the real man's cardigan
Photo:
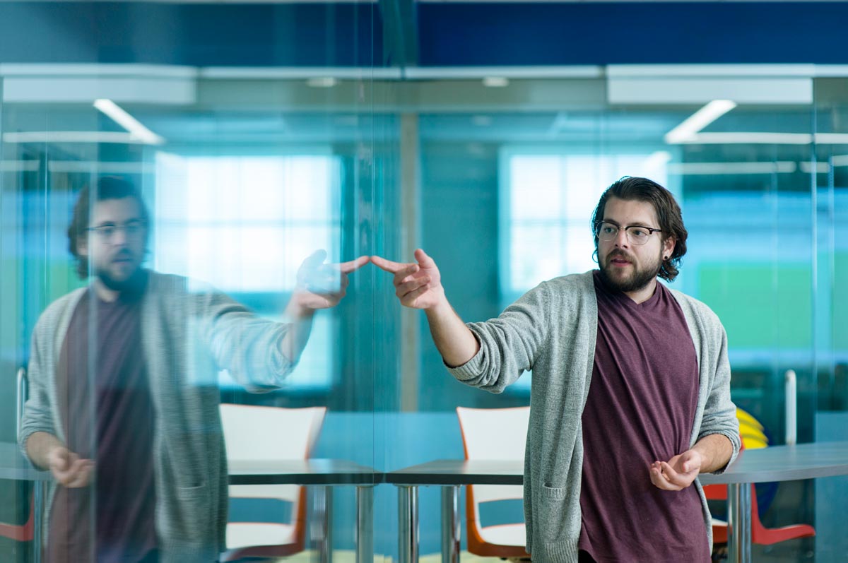
<instances>
[{"instance_id":1,"label":"real white chair with orange edge, beside the real man's cardigan","mask_svg":"<svg viewBox=\"0 0 848 563\"><path fill-rule=\"evenodd\" d=\"M530 407L457 407L466 460L524 460ZM468 552L483 557L529 557L524 522L483 527L480 504L523 499L519 485L469 485L466 490Z\"/></svg>"}]
</instances>

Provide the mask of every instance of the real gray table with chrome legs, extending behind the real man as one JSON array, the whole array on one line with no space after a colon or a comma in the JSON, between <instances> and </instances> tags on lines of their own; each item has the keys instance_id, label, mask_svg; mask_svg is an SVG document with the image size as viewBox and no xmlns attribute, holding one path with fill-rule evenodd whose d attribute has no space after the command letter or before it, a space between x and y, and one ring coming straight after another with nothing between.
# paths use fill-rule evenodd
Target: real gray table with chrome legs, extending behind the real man
<instances>
[{"instance_id":1,"label":"real gray table with chrome legs, extending behind the real man","mask_svg":"<svg viewBox=\"0 0 848 563\"><path fill-rule=\"evenodd\" d=\"M848 475L848 442L804 443L748 449L721 475L704 474L702 484L728 484L728 555L750 563L750 485ZM460 560L459 490L465 485L520 485L518 460L436 460L385 474L398 487L399 563L418 561L418 487L442 487L442 561Z\"/></svg>"}]
</instances>

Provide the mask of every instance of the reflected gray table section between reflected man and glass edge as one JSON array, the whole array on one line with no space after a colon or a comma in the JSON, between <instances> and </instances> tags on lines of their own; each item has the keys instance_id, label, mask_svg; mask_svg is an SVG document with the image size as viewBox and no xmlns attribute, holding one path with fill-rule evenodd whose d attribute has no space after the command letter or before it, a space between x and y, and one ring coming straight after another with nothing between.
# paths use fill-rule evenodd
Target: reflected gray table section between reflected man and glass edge
<instances>
[{"instance_id":1,"label":"reflected gray table section between reflected man and glass edge","mask_svg":"<svg viewBox=\"0 0 848 563\"><path fill-rule=\"evenodd\" d=\"M382 473L347 460L231 461L231 485L305 485L315 487L315 511L321 516L321 563L332 562L332 487L356 487L356 561L374 560L374 486Z\"/></svg>"}]
</instances>

